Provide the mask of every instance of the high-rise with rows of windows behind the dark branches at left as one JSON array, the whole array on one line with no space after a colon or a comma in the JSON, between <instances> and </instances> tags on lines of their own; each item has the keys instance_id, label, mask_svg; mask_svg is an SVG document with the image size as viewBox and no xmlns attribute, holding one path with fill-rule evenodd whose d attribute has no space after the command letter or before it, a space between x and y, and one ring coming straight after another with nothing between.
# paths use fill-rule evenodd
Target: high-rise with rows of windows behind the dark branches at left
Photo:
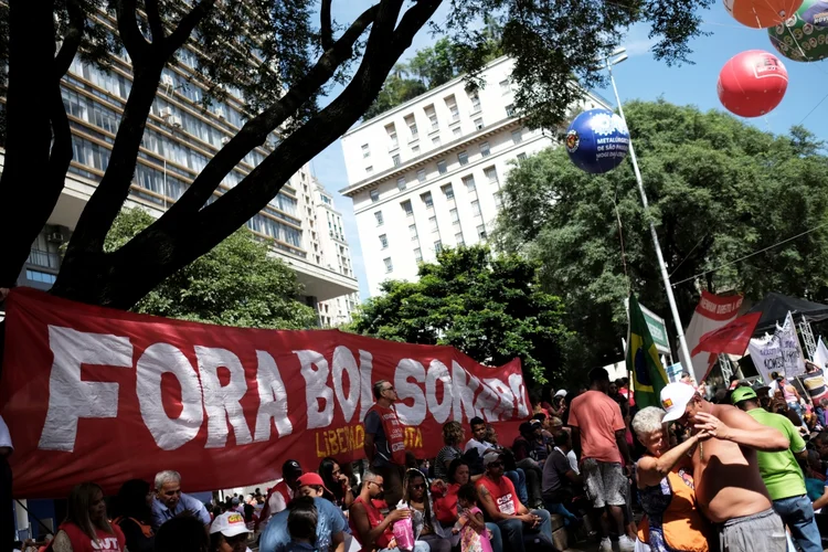
<instances>
[{"instance_id":1,"label":"high-rise with rows of windows behind the dark branches at left","mask_svg":"<svg viewBox=\"0 0 828 552\"><path fill-rule=\"evenodd\" d=\"M246 120L245 103L235 89L213 102L199 103L205 86L195 72L195 57L187 49L180 63L167 67L147 120L135 181L127 206L141 206L160 215L184 192L206 162L240 130ZM115 134L132 82L126 54L112 57L108 70L76 59L61 83L63 102L72 128L73 160L57 205L36 242L18 284L49 288L60 269L60 248L75 226L109 162ZM215 197L236 185L278 144L277 132L251 151L222 182ZM0 170L2 156L0 155ZM358 290L353 272L340 270L323 258L328 240L323 222L317 226L315 195L319 187L305 166L253 219L247 227L272 240L273 254L288 263L304 285L302 300L319 301L349 296Z\"/></svg>"}]
</instances>

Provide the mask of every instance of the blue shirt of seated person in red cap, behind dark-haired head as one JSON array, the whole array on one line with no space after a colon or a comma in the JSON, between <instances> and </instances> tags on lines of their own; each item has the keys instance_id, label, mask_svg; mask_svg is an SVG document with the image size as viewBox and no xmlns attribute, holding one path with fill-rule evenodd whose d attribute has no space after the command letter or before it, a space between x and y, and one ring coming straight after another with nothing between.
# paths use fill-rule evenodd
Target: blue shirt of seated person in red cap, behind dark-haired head
<instances>
[{"instance_id":1,"label":"blue shirt of seated person in red cap, behind dark-haired head","mask_svg":"<svg viewBox=\"0 0 828 552\"><path fill-rule=\"evenodd\" d=\"M299 488L298 496L305 496ZM347 524L342 511L330 500L320 497L311 497L317 511L316 523L316 550L328 552L344 552L344 538ZM298 502L301 505L302 502ZM288 552L291 549L290 532L288 531L288 517L294 501L288 505L287 510L280 511L270 518L258 544L259 552Z\"/></svg>"}]
</instances>

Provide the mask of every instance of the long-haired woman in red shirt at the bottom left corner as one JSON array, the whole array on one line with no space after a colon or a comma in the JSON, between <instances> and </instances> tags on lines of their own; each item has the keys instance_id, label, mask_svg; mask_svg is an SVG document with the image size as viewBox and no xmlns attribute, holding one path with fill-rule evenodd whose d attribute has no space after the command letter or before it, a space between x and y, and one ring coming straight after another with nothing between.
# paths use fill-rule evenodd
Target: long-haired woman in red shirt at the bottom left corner
<instances>
[{"instance_id":1,"label":"long-haired woman in red shirt at the bottom left corner","mask_svg":"<svg viewBox=\"0 0 828 552\"><path fill-rule=\"evenodd\" d=\"M126 552L126 546L124 532L118 526L109 524L106 517L104 490L96 484L85 482L70 492L66 520L57 528L46 550L79 552L103 549Z\"/></svg>"}]
</instances>

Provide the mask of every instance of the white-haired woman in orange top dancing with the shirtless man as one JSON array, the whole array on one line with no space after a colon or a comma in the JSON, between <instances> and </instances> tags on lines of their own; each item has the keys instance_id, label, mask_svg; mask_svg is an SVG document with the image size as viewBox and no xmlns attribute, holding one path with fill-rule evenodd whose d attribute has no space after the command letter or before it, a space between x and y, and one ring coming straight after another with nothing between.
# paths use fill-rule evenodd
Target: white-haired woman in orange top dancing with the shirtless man
<instances>
[{"instance_id":1,"label":"white-haired woman in orange top dancing with the shirtless man","mask_svg":"<svg viewBox=\"0 0 828 552\"><path fill-rule=\"evenodd\" d=\"M709 527L696 502L692 467L686 469L684 461L699 440L710 435L699 432L670 448L664 417L665 411L648 406L633 418L633 431L648 453L636 468L648 521L639 524L638 539L654 552L709 552Z\"/></svg>"}]
</instances>

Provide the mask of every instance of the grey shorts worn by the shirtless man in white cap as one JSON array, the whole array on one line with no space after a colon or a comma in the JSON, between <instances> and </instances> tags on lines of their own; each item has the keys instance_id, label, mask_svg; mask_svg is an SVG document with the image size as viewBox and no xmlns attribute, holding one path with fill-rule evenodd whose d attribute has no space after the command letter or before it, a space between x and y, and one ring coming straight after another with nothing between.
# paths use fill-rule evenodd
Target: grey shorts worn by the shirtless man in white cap
<instances>
[{"instance_id":1,"label":"grey shorts worn by the shirtless man in white cap","mask_svg":"<svg viewBox=\"0 0 828 552\"><path fill-rule=\"evenodd\" d=\"M719 546L721 552L786 552L788 541L782 518L769 508L720 524Z\"/></svg>"}]
</instances>

